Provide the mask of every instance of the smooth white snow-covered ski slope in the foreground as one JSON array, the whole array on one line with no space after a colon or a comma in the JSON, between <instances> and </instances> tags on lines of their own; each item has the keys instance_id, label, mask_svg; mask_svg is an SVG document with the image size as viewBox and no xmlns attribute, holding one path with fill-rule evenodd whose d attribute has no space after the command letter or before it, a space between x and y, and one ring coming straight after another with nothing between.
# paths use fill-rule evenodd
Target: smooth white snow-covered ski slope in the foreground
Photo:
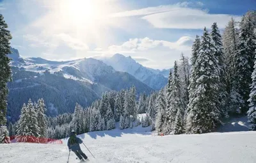
<instances>
[{"instance_id":1,"label":"smooth white snow-covered ski slope in the foreground","mask_svg":"<svg viewBox=\"0 0 256 163\"><path fill-rule=\"evenodd\" d=\"M96 159L81 144L90 162L256 162L256 132L151 136L146 132L124 134L110 130L80 135ZM125 130L124 130L125 132ZM67 162L63 144L0 144L1 163ZM70 163L79 162L70 153Z\"/></svg>"}]
</instances>

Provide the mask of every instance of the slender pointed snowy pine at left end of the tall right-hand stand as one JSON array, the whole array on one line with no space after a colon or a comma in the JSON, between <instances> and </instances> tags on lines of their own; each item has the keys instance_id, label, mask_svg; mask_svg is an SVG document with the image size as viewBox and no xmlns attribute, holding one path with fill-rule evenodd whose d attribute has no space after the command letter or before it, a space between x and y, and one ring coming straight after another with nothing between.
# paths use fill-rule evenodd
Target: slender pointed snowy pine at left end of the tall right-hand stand
<instances>
[{"instance_id":1,"label":"slender pointed snowy pine at left end of the tall right-hand stand","mask_svg":"<svg viewBox=\"0 0 256 163\"><path fill-rule=\"evenodd\" d=\"M165 121L165 134L170 134L172 130L174 130L176 124L176 116L178 111L182 116L183 123L183 115L185 111L184 105L184 98L182 97L182 88L180 85L180 78L178 74L178 66L177 61L174 63L174 70L173 70L173 79L171 84L171 93L170 93L170 107L166 109L166 121ZM183 124L182 124L183 125Z\"/></svg>"}]
</instances>

